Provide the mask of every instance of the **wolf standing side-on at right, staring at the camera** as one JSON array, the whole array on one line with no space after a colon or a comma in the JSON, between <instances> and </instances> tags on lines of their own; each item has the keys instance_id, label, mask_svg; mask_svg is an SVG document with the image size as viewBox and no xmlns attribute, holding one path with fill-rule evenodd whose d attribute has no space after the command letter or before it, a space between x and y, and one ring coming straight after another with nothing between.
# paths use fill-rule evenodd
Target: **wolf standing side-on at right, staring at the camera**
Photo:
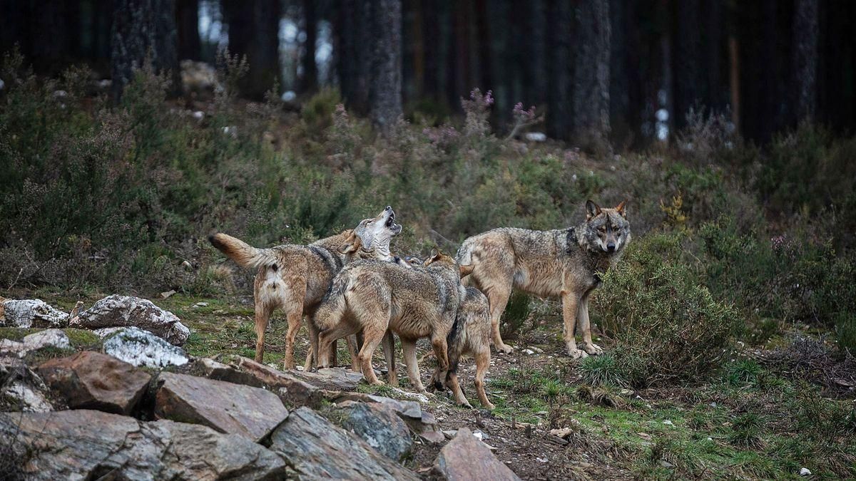
<instances>
[{"instance_id":1,"label":"wolf standing side-on at right, staring at the camera","mask_svg":"<svg viewBox=\"0 0 856 481\"><path fill-rule=\"evenodd\" d=\"M578 359L603 353L591 342L589 294L599 272L613 267L630 241L625 202L602 209L586 201L586 222L562 230L493 229L464 241L460 264L473 264L469 280L490 302L490 330L496 350L510 353L499 335L499 318L512 288L540 297L561 297L568 354ZM583 348L574 339L580 324Z\"/></svg>"}]
</instances>

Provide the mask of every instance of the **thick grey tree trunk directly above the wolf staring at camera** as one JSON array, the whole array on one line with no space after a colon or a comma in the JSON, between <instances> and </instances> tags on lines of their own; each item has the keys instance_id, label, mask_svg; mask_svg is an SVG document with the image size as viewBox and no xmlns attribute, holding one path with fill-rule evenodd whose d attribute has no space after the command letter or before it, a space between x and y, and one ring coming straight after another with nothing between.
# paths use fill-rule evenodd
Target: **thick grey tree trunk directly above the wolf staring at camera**
<instances>
[{"instance_id":1,"label":"thick grey tree trunk directly above the wolf staring at camera","mask_svg":"<svg viewBox=\"0 0 856 481\"><path fill-rule=\"evenodd\" d=\"M571 138L601 149L609 142L609 0L580 0L576 10Z\"/></svg>"}]
</instances>

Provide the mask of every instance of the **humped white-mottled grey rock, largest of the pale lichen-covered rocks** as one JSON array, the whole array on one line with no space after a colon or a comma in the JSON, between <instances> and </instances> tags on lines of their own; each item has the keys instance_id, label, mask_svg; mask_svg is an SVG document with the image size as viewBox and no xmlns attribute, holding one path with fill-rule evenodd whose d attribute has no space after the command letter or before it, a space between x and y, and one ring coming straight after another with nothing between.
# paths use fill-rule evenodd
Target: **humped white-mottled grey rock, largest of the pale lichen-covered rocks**
<instances>
[{"instance_id":1,"label":"humped white-mottled grey rock, largest of the pale lichen-covered rocks","mask_svg":"<svg viewBox=\"0 0 856 481\"><path fill-rule=\"evenodd\" d=\"M155 306L151 300L128 295L113 294L98 300L72 321L70 327L92 330L134 326L163 337L175 346L181 346L190 336L190 330L172 312Z\"/></svg>"}]
</instances>

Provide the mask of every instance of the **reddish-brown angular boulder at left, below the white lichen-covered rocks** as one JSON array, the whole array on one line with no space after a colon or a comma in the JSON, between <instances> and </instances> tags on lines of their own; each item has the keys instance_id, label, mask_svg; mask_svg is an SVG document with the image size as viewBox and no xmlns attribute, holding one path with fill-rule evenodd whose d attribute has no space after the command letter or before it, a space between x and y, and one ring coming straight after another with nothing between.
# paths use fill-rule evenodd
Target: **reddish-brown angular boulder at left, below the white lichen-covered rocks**
<instances>
[{"instance_id":1,"label":"reddish-brown angular boulder at left, below the white lichen-covered rocks","mask_svg":"<svg viewBox=\"0 0 856 481\"><path fill-rule=\"evenodd\" d=\"M68 407L116 414L131 413L152 379L127 362L91 351L50 359L38 371Z\"/></svg>"}]
</instances>

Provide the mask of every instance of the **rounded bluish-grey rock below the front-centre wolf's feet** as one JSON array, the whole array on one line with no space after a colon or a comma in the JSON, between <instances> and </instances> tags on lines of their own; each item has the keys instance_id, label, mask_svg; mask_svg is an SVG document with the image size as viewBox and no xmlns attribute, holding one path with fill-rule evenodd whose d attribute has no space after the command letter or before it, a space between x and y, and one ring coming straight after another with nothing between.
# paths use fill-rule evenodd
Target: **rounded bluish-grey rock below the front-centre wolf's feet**
<instances>
[{"instance_id":1,"label":"rounded bluish-grey rock below the front-centre wolf's feet","mask_svg":"<svg viewBox=\"0 0 856 481\"><path fill-rule=\"evenodd\" d=\"M393 408L377 402L345 401L334 412L342 415L339 425L390 460L401 461L410 454L410 429Z\"/></svg>"}]
</instances>

